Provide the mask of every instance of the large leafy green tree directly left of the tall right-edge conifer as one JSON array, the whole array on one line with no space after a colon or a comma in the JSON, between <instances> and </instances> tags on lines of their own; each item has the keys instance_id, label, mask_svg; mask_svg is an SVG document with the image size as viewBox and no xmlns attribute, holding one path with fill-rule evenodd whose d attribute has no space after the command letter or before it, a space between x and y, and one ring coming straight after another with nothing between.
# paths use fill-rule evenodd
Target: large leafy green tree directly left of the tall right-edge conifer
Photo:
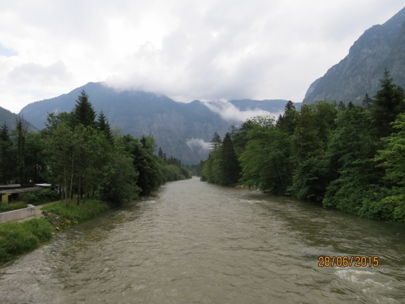
<instances>
[{"instance_id":1,"label":"large leafy green tree directly left of the tall right-edge conifer","mask_svg":"<svg viewBox=\"0 0 405 304\"><path fill-rule=\"evenodd\" d=\"M336 124L327 156L329 162L336 166L331 166L333 169L329 174L337 178L328 185L322 204L358 214L363 201L378 192L382 176L373 161L378 142L372 136L367 108L354 106L340 111Z\"/></svg>"}]
</instances>

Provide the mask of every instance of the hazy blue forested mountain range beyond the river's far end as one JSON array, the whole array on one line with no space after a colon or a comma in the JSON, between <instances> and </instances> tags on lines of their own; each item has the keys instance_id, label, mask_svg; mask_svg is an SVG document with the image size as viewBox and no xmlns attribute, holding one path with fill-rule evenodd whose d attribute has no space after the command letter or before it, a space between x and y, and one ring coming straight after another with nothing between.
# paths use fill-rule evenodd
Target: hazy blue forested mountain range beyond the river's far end
<instances>
[{"instance_id":1,"label":"hazy blue forested mountain range beyond the river's far end","mask_svg":"<svg viewBox=\"0 0 405 304\"><path fill-rule=\"evenodd\" d=\"M224 136L232 123L238 123L222 119L219 113L211 111L198 100L181 103L164 95L143 91L116 92L102 83L88 83L68 94L30 103L20 114L42 129L47 112L70 111L82 88L90 96L95 110L103 110L111 126L117 125L124 134L129 133L135 137L152 134L168 157L172 155L184 163L197 163L206 159L206 143L214 133ZM276 113L284 111L287 100L245 99L230 103L241 110L260 108Z\"/></svg>"}]
</instances>

